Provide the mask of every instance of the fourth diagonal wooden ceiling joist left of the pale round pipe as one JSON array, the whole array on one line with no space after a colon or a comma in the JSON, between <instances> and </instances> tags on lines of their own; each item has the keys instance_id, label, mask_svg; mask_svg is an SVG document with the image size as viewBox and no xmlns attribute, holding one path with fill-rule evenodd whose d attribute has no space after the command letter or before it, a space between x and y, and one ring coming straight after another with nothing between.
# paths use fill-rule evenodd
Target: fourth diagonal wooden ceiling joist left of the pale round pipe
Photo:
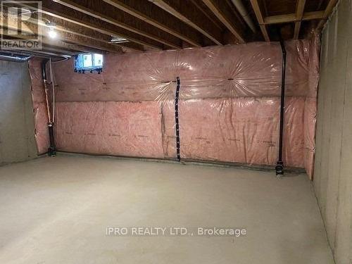
<instances>
[{"instance_id":1,"label":"fourth diagonal wooden ceiling joist left of the pale round pipe","mask_svg":"<svg viewBox=\"0 0 352 264\"><path fill-rule=\"evenodd\" d=\"M173 49L182 48L182 42L177 37L168 32L161 31L156 27L151 27L148 23L138 20L129 13L124 13L102 0L56 0L56 2L68 6L69 8L73 8L75 11L92 15L94 18L98 18L107 23L111 23L112 25L122 27L125 30L153 39L156 42L170 46Z\"/></svg>"}]
</instances>

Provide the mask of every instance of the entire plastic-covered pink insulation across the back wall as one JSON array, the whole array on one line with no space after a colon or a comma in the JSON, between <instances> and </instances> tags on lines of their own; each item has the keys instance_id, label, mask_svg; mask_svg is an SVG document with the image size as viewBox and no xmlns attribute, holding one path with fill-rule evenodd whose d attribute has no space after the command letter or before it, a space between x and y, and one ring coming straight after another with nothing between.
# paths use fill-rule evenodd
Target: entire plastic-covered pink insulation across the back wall
<instances>
[{"instance_id":1,"label":"entire plastic-covered pink insulation across the back wall","mask_svg":"<svg viewBox=\"0 0 352 264\"><path fill-rule=\"evenodd\" d=\"M317 39L285 43L285 165L311 175L318 89ZM109 54L103 73L54 65L58 150L176 158L175 78L180 77L182 159L274 165L282 52L260 42Z\"/></svg>"}]
</instances>

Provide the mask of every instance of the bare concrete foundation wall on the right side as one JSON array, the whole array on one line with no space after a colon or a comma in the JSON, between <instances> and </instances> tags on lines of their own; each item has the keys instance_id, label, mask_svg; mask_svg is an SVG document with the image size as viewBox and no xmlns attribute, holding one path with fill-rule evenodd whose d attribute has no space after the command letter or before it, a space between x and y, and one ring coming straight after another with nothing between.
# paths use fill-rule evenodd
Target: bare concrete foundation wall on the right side
<instances>
[{"instance_id":1,"label":"bare concrete foundation wall on the right side","mask_svg":"<svg viewBox=\"0 0 352 264\"><path fill-rule=\"evenodd\" d=\"M322 34L315 192L337 264L352 263L352 1Z\"/></svg>"}]
</instances>

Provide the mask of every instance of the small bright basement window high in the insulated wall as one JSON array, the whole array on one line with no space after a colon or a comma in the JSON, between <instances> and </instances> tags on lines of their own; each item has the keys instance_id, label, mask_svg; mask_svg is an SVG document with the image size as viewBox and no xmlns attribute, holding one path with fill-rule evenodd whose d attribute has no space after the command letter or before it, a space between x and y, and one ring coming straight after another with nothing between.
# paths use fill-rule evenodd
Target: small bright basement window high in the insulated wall
<instances>
[{"instance_id":1,"label":"small bright basement window high in the insulated wall","mask_svg":"<svg viewBox=\"0 0 352 264\"><path fill-rule=\"evenodd\" d=\"M85 73L96 71L100 74L103 71L102 54L78 54L75 56L75 73Z\"/></svg>"}]
</instances>

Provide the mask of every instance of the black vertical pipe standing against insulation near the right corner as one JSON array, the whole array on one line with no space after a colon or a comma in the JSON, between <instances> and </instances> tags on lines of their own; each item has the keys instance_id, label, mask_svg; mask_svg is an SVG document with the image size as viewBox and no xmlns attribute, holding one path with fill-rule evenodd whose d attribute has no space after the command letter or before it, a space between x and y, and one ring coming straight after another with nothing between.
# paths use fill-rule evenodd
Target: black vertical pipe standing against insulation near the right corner
<instances>
[{"instance_id":1,"label":"black vertical pipe standing against insulation near the right corner","mask_svg":"<svg viewBox=\"0 0 352 264\"><path fill-rule=\"evenodd\" d=\"M276 175L284 175L284 162L282 161L282 142L284 140L284 99L285 99L285 75L286 75L286 49L284 42L280 40L282 49L282 77L281 77L281 103L280 103L280 127L279 127L279 159L276 163Z\"/></svg>"}]
</instances>

